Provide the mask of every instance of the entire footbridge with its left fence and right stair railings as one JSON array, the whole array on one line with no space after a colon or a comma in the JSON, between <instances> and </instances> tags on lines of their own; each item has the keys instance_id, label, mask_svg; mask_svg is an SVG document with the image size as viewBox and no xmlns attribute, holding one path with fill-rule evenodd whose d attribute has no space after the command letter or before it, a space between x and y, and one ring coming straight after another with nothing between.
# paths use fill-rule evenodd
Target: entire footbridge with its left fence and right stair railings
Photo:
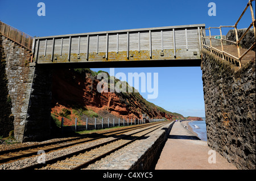
<instances>
[{"instance_id":1,"label":"entire footbridge with its left fence and right stair railings","mask_svg":"<svg viewBox=\"0 0 256 181\"><path fill-rule=\"evenodd\" d=\"M251 27L254 28L255 37L252 1L255 0L247 3L234 26L205 29L205 24L192 24L34 38L0 22L0 33L30 49L31 62L36 65L68 68L200 66L201 50L205 49L241 67L242 58L250 60L252 56L255 57L255 53L249 53L255 47L255 41L247 49L240 47L243 37ZM248 7L253 21L245 33L238 37L237 24ZM223 38L221 28L225 27L234 28L236 40ZM220 39L211 36L212 28L220 30ZM205 30L209 30L209 36L205 36ZM212 43L217 40L220 42L214 47Z\"/></svg>"}]
</instances>

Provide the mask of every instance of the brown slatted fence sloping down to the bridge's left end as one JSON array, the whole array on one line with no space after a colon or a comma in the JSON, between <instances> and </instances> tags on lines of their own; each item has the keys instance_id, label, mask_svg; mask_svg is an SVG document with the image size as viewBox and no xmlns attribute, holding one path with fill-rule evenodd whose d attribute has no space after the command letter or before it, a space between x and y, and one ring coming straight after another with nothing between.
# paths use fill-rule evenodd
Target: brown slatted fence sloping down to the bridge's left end
<instances>
[{"instance_id":1,"label":"brown slatted fence sloping down to the bridge's left end","mask_svg":"<svg viewBox=\"0 0 256 181\"><path fill-rule=\"evenodd\" d=\"M34 37L27 35L26 33L11 27L8 24L5 24L0 21L0 35L7 37L10 40L13 40L15 43L22 45L22 47L27 48L32 51L32 43Z\"/></svg>"}]
</instances>

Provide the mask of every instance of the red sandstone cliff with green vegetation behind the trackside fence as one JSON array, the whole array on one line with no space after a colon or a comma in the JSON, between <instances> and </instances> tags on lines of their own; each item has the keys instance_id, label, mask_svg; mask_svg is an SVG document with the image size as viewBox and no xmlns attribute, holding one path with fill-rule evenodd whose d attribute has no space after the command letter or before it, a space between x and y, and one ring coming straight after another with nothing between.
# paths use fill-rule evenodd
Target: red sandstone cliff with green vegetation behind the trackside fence
<instances>
[{"instance_id":1,"label":"red sandstone cliff with green vegetation behind the trackside fence","mask_svg":"<svg viewBox=\"0 0 256 181\"><path fill-rule=\"evenodd\" d=\"M82 69L80 69L82 70ZM139 93L98 92L95 72L75 70L56 70L52 83L52 115L60 120L67 117L72 125L75 117L108 117L141 119L142 113L150 118L167 120L184 119L178 113L172 113L147 102ZM94 75L93 75L94 74ZM110 113L110 114L109 114ZM105 117L104 117L105 118Z\"/></svg>"}]
</instances>

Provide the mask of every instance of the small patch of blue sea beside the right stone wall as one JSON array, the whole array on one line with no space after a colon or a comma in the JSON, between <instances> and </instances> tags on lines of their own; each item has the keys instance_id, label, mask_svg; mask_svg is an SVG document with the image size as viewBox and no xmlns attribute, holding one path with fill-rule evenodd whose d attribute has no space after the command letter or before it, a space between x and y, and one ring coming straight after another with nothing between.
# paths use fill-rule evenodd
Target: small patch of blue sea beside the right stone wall
<instances>
[{"instance_id":1,"label":"small patch of blue sea beside the right stone wall","mask_svg":"<svg viewBox=\"0 0 256 181\"><path fill-rule=\"evenodd\" d=\"M201 140L207 141L207 130L205 121L191 121L188 124L193 129L193 132L197 133L198 137Z\"/></svg>"}]
</instances>

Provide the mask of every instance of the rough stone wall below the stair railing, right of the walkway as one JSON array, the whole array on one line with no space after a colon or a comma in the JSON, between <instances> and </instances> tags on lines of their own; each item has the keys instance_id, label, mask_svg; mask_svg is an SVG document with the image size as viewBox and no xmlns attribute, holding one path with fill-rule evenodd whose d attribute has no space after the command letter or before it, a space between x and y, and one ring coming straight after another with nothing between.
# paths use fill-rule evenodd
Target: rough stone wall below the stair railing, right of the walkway
<instances>
[{"instance_id":1,"label":"rough stone wall below the stair railing, right of the walkway","mask_svg":"<svg viewBox=\"0 0 256 181\"><path fill-rule=\"evenodd\" d=\"M255 58L234 71L203 51L201 68L208 145L238 169L255 169Z\"/></svg>"}]
</instances>

